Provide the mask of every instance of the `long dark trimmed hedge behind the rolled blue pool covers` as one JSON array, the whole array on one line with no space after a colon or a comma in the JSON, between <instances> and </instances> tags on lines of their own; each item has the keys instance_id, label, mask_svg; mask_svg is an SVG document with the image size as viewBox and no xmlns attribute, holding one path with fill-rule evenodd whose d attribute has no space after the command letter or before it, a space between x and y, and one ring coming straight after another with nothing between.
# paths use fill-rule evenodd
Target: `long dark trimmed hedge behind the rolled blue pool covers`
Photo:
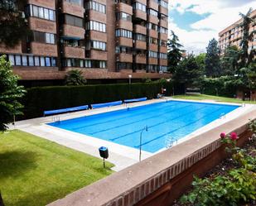
<instances>
[{"instance_id":1,"label":"long dark trimmed hedge behind the rolled blue pool covers","mask_svg":"<svg viewBox=\"0 0 256 206\"><path fill-rule=\"evenodd\" d=\"M167 95L171 95L172 84L164 83ZM42 117L43 111L71 108L92 103L106 103L127 98L156 98L161 93L162 84L99 84L85 86L54 86L27 89L22 100L24 116L21 118Z\"/></svg>"}]
</instances>

